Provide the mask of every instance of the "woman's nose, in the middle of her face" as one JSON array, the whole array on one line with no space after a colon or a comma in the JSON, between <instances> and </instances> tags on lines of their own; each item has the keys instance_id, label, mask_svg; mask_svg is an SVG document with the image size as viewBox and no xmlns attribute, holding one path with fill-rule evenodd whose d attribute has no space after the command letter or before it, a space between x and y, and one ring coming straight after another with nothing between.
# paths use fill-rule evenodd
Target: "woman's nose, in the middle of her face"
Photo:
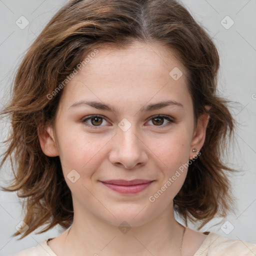
<instances>
[{"instance_id":1,"label":"woman's nose, in the middle of her face","mask_svg":"<svg viewBox=\"0 0 256 256\"><path fill-rule=\"evenodd\" d=\"M136 165L144 165L148 159L146 145L142 136L138 135L135 125L123 131L117 128L117 134L113 137L109 160L113 165L123 165L127 169L135 168ZM134 127L134 128L133 128Z\"/></svg>"}]
</instances>

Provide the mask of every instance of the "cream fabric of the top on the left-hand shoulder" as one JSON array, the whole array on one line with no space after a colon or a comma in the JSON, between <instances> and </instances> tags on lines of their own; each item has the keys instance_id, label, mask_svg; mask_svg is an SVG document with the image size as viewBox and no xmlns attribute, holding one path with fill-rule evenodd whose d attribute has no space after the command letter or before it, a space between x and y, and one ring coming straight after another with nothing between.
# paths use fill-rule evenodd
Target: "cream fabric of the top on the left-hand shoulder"
<instances>
[{"instance_id":1,"label":"cream fabric of the top on the left-hand shoulder","mask_svg":"<svg viewBox=\"0 0 256 256\"><path fill-rule=\"evenodd\" d=\"M51 238L49 238L51 239ZM12 256L57 256L47 245L47 240L43 240L34 247L21 250Z\"/></svg>"}]
</instances>

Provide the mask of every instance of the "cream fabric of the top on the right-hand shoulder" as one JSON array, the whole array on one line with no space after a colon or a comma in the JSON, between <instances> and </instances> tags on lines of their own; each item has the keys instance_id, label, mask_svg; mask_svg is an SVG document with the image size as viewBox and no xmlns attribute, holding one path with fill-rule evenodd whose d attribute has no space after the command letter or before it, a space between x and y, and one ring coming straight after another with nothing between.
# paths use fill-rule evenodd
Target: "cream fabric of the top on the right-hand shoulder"
<instances>
[{"instance_id":1,"label":"cream fabric of the top on the right-hand shoulder","mask_svg":"<svg viewBox=\"0 0 256 256\"><path fill-rule=\"evenodd\" d=\"M209 232L209 237L203 244L203 255L215 256L253 256L256 255L256 244L240 239L228 239L220 234ZM206 252L206 254L205 254ZM197 255L194 255L197 256Z\"/></svg>"}]
</instances>

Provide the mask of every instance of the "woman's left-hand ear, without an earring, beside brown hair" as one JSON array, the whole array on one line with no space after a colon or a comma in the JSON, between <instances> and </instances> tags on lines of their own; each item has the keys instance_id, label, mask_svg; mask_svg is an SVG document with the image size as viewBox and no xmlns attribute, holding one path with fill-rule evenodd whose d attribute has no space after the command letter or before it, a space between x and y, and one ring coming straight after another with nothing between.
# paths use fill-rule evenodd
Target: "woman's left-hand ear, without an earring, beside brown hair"
<instances>
[{"instance_id":1,"label":"woman's left-hand ear, without an earring, beside brown hair","mask_svg":"<svg viewBox=\"0 0 256 256\"><path fill-rule=\"evenodd\" d=\"M39 133L39 141L44 154L51 157L59 155L52 125L46 126Z\"/></svg>"}]
</instances>

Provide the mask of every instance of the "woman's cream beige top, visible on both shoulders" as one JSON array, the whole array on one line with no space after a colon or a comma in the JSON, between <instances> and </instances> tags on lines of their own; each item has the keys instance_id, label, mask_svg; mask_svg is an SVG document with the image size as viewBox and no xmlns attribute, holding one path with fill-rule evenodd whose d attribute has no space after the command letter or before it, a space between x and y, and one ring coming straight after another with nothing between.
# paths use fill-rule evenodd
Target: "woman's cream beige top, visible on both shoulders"
<instances>
[{"instance_id":1,"label":"woman's cream beige top, visible on both shoulders","mask_svg":"<svg viewBox=\"0 0 256 256\"><path fill-rule=\"evenodd\" d=\"M208 235L193 256L256 256L256 244L236 239L228 239L214 232ZM53 239L49 238L48 240ZM43 240L37 246L30 247L12 256L57 256Z\"/></svg>"}]
</instances>

